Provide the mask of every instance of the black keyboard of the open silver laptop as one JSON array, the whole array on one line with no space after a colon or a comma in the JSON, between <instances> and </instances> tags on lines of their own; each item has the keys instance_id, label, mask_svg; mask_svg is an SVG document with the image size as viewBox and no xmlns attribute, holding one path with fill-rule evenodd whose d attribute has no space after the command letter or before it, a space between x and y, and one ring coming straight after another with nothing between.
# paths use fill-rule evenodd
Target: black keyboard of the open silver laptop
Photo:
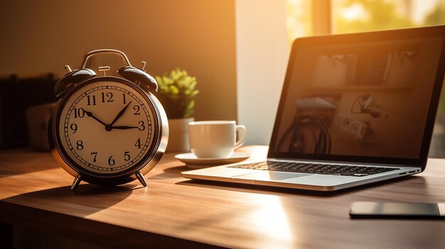
<instances>
[{"instance_id":1,"label":"black keyboard of the open silver laptop","mask_svg":"<svg viewBox=\"0 0 445 249\"><path fill-rule=\"evenodd\" d=\"M301 162L255 162L245 165L234 165L228 167L252 169L252 170L272 170L284 172L296 172L321 175L345 175L350 177L365 177L391 170L398 170L395 167L363 167L353 165L321 165L316 163Z\"/></svg>"}]
</instances>

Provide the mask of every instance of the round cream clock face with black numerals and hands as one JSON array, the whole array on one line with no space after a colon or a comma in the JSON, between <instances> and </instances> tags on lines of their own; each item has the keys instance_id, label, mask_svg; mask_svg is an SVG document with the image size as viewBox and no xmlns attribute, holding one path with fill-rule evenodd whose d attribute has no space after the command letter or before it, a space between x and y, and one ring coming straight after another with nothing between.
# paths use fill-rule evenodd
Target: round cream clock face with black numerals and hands
<instances>
[{"instance_id":1,"label":"round cream clock face with black numerals and hands","mask_svg":"<svg viewBox=\"0 0 445 249\"><path fill-rule=\"evenodd\" d=\"M138 166L158 129L151 102L114 81L80 87L58 118L58 136L70 160L102 175Z\"/></svg>"}]
</instances>

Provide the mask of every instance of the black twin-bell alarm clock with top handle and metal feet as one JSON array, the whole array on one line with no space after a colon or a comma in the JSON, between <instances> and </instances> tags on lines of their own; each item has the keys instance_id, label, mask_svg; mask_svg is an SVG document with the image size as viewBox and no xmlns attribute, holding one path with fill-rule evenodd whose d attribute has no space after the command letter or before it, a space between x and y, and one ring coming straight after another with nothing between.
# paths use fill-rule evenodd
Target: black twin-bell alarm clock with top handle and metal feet
<instances>
[{"instance_id":1,"label":"black twin-bell alarm clock with top handle and metal feet","mask_svg":"<svg viewBox=\"0 0 445 249\"><path fill-rule=\"evenodd\" d=\"M97 76L86 68L90 57L118 55L121 77ZM143 62L145 65L145 62ZM88 52L78 70L55 84L61 97L50 117L48 140L55 159L80 181L117 185L139 179L161 159L168 141L166 112L156 98L156 80L133 67L118 50ZM109 70L109 67L100 67Z\"/></svg>"}]
</instances>

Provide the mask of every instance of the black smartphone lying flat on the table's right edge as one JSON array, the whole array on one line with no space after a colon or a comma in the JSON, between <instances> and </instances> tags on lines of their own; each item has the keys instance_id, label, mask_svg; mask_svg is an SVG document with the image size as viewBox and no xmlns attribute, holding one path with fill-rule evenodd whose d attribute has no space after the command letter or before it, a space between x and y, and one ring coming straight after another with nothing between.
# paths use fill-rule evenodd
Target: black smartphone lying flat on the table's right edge
<instances>
[{"instance_id":1,"label":"black smartphone lying flat on the table's right edge","mask_svg":"<svg viewBox=\"0 0 445 249\"><path fill-rule=\"evenodd\" d=\"M445 218L445 203L357 201L350 218Z\"/></svg>"}]
</instances>

